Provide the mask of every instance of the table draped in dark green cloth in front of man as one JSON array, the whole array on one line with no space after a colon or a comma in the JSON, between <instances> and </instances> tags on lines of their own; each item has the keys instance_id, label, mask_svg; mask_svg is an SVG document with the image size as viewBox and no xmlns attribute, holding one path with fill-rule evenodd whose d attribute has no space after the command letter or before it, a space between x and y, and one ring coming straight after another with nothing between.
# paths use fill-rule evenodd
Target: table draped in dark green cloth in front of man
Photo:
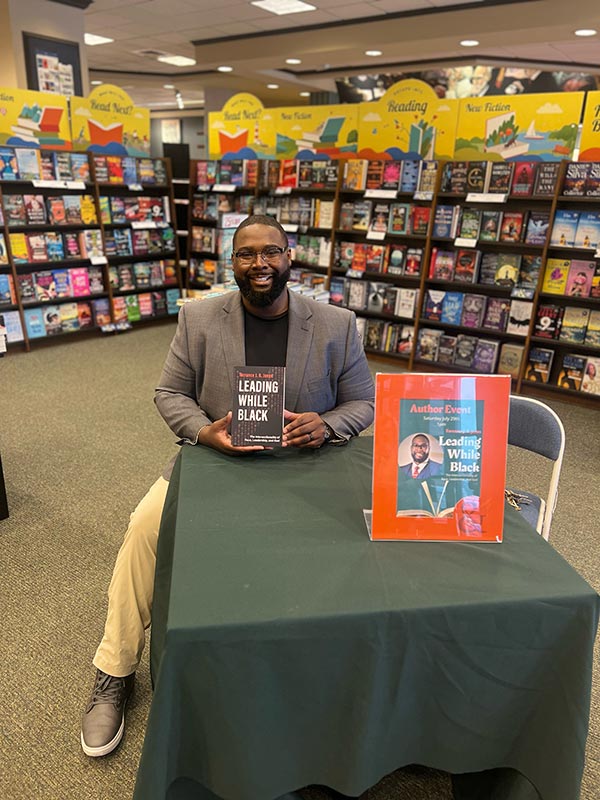
<instances>
[{"instance_id":1,"label":"table draped in dark green cloth in front of man","mask_svg":"<svg viewBox=\"0 0 600 800\"><path fill-rule=\"evenodd\" d=\"M136 800L359 795L407 764L576 800L597 594L509 507L503 544L370 542L371 460L183 447Z\"/></svg>"}]
</instances>

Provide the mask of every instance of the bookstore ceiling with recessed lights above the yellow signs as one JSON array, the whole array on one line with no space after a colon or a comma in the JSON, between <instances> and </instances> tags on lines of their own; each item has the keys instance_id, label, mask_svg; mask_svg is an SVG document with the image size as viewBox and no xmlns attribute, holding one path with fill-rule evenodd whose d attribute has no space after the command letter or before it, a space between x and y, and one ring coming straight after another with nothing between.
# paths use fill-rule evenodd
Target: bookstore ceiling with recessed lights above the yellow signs
<instances>
[{"instance_id":1,"label":"bookstore ceiling with recessed lights above the yellow signs","mask_svg":"<svg viewBox=\"0 0 600 800\"><path fill-rule=\"evenodd\" d=\"M279 16L250 0L94 0L85 30L114 42L86 46L90 80L121 86L137 105L160 111L176 108L175 89L185 108L220 108L241 91L267 106L299 105L308 102L302 91L335 91L336 77L441 63L600 73L600 33L574 35L600 31L598 0L310 2L316 10ZM480 44L461 47L465 38ZM382 55L366 56L368 49ZM197 63L173 67L156 53ZM302 63L289 66L289 57ZM220 73L221 65L233 71Z\"/></svg>"}]
</instances>

